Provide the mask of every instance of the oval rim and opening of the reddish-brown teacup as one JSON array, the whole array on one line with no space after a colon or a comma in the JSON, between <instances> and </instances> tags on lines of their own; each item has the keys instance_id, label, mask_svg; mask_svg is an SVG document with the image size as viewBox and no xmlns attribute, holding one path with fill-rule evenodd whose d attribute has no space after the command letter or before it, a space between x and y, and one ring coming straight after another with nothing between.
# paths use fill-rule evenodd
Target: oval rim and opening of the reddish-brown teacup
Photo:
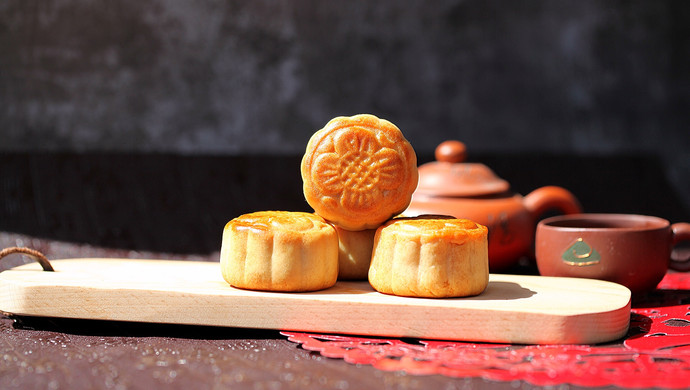
<instances>
[{"instance_id":1,"label":"oval rim and opening of the reddish-brown teacup","mask_svg":"<svg viewBox=\"0 0 690 390\"><path fill-rule=\"evenodd\" d=\"M578 224L579 223L579 224ZM591 226L587 226L587 223ZM611 223L616 226L596 226ZM640 214L580 213L558 215L541 220L540 229L561 231L648 231L664 229L670 222L661 217Z\"/></svg>"}]
</instances>

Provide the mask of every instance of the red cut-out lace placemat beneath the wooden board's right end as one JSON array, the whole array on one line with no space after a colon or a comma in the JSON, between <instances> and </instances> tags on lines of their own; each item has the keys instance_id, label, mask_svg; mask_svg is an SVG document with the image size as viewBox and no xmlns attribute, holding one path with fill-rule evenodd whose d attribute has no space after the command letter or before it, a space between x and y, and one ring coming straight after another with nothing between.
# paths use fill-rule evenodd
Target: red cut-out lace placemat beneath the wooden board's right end
<instances>
[{"instance_id":1,"label":"red cut-out lace placemat beneath the wooden board's right end","mask_svg":"<svg viewBox=\"0 0 690 390\"><path fill-rule=\"evenodd\" d=\"M624 340L604 345L509 345L282 332L310 351L414 375L524 380L533 385L690 386L690 275L669 273L633 302ZM519 324L516 324L519 326Z\"/></svg>"}]
</instances>

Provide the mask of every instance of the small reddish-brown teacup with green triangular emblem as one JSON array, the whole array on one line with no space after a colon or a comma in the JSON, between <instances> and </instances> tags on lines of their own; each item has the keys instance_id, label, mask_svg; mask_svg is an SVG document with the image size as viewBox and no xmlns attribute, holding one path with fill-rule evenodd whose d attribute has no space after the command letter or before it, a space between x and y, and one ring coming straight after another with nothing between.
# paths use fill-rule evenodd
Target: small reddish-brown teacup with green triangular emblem
<instances>
[{"instance_id":1,"label":"small reddish-brown teacup with green triangular emblem","mask_svg":"<svg viewBox=\"0 0 690 390\"><path fill-rule=\"evenodd\" d=\"M633 293L654 289L670 268L673 247L690 242L690 224L634 214L573 214L539 222L535 255L539 273L602 279Z\"/></svg>"}]
</instances>

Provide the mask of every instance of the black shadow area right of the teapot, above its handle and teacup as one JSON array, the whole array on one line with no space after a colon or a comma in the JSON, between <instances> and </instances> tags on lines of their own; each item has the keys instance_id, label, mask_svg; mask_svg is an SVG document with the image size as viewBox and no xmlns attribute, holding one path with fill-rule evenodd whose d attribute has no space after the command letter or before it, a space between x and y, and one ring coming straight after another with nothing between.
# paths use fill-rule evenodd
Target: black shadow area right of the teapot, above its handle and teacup
<instances>
[{"instance_id":1,"label":"black shadow area right of the teapot, above its handle and teacup","mask_svg":"<svg viewBox=\"0 0 690 390\"><path fill-rule=\"evenodd\" d=\"M585 212L654 215L690 221L686 207L654 155L509 154L481 157L523 195L559 185L576 195Z\"/></svg>"}]
</instances>

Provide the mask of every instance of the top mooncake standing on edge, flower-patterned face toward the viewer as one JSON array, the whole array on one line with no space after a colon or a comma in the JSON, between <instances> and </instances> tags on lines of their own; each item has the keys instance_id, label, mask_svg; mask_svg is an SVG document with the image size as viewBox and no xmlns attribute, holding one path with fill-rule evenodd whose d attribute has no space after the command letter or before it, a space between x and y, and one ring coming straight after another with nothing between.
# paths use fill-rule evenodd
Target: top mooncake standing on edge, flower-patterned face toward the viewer
<instances>
[{"instance_id":1,"label":"top mooncake standing on edge, flower-patterned face toward the viewer","mask_svg":"<svg viewBox=\"0 0 690 390\"><path fill-rule=\"evenodd\" d=\"M400 129L370 114L334 118L314 133L301 172L307 203L347 230L377 228L405 210L418 180Z\"/></svg>"}]
</instances>

